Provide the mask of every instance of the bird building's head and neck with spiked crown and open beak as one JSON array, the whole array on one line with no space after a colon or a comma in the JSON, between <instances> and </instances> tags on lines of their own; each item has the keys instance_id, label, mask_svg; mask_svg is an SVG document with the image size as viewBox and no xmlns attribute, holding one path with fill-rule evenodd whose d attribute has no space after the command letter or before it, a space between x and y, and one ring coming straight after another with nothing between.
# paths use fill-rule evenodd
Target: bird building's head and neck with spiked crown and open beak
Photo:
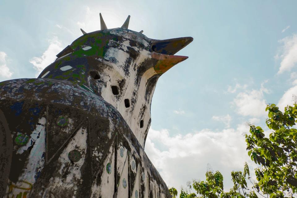
<instances>
[{"instance_id":1,"label":"bird building's head and neck with spiked crown and open beak","mask_svg":"<svg viewBox=\"0 0 297 198\"><path fill-rule=\"evenodd\" d=\"M151 123L150 106L158 78L187 59L176 54L192 37L150 39L128 29L108 29L100 13L101 30L83 35L57 54L39 78L68 80L112 104L144 147Z\"/></svg>"}]
</instances>

